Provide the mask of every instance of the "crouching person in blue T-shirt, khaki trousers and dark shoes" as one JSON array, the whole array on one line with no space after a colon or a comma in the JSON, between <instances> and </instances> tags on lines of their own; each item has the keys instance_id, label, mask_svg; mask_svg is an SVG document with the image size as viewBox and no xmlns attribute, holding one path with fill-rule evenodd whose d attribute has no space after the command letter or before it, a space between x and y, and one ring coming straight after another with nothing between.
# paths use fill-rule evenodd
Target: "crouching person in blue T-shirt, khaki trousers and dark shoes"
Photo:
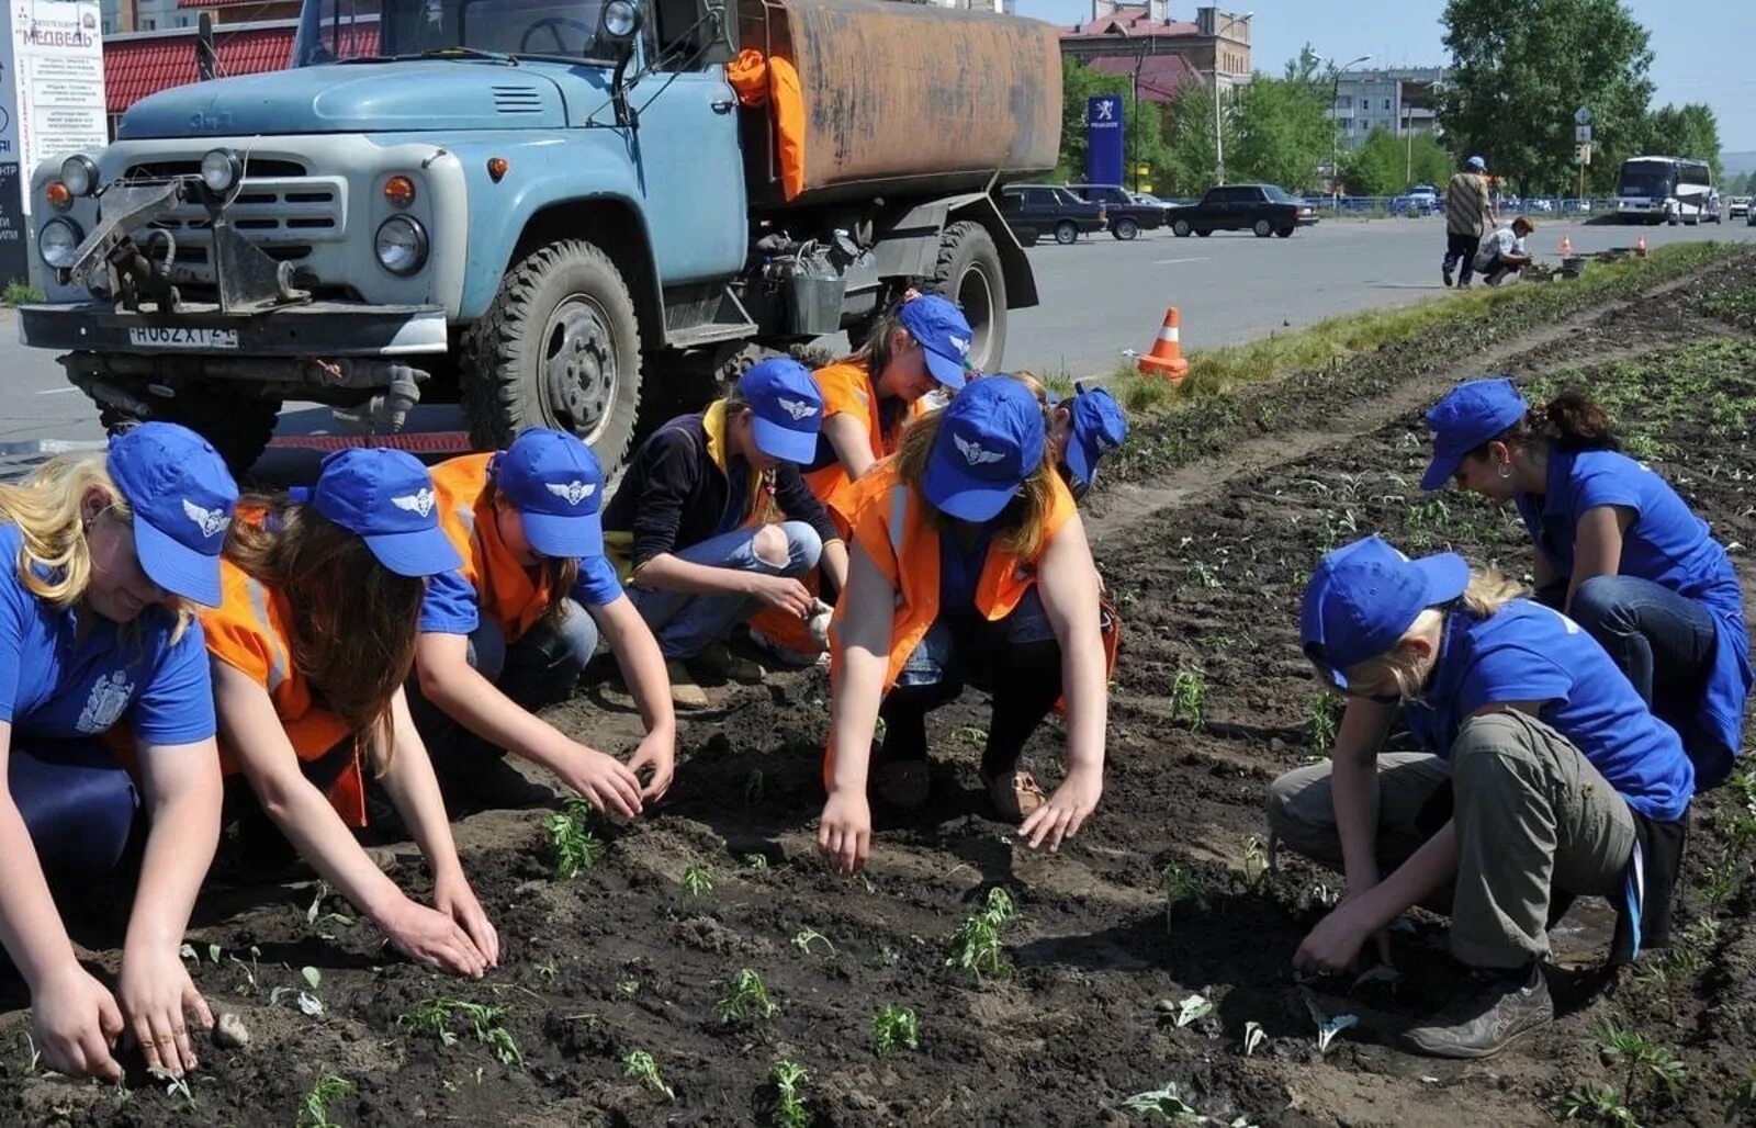
<instances>
[{"instance_id":1,"label":"crouching person in blue T-shirt, khaki trousers and dark shoes","mask_svg":"<svg viewBox=\"0 0 1756 1128\"><path fill-rule=\"evenodd\" d=\"M1301 638L1347 694L1335 754L1270 785L1282 845L1347 873L1294 966L1349 970L1417 903L1450 908L1472 970L1405 1031L1419 1052L1486 1058L1549 1023L1549 928L1572 896L1617 910L1612 961L1663 947L1695 771L1603 648L1463 557L1408 560L1378 538L1335 550L1305 589ZM1424 752L1378 754L1401 710Z\"/></svg>"}]
</instances>

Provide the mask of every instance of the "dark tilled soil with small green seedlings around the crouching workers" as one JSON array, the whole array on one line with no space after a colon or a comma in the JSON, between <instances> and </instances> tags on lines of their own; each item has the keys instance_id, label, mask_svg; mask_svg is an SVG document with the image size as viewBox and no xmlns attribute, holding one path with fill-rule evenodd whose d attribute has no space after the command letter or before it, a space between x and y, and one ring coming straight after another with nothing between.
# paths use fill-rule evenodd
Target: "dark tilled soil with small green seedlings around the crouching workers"
<instances>
[{"instance_id":1,"label":"dark tilled soil with small green seedlings around the crouching workers","mask_svg":"<svg viewBox=\"0 0 1756 1128\"><path fill-rule=\"evenodd\" d=\"M1619 1089L1647 1124L1747 1117L1737 1100L1756 1061L1756 819L1740 819L1737 787L1698 801L1673 954L1642 961L1605 996L1594 968L1608 915L1577 907L1556 933L1561 1021L1486 1063L1394 1047L1394 1016L1442 1000L1459 973L1433 919L1398 933L1394 986L1294 982L1289 958L1343 882L1294 857L1264 871L1261 798L1328 747L1333 712L1294 640L1321 552L1384 531L1410 552L1529 568L1510 511L1419 495L1421 411L1454 380L1510 371L1533 395L1586 383L1616 409L1630 450L1747 568L1756 336L1702 309L1747 309L1752 262L1452 351L1454 362L1361 358L1352 397L1338 372L1282 381L1238 401L1240 418L1261 423L1229 450L1161 450L1119 474L1127 481L1099 492L1089 518L1127 624L1106 792L1059 856L1017 847L987 815L976 780L987 703L969 692L932 719L929 810L880 813L867 879L834 879L813 854L822 675L727 687L718 712L687 722L666 803L634 826L595 826L606 849L578 879L551 877L544 812L460 824L506 947L488 979L397 959L313 884L212 891L191 929L197 980L246 1021L249 1045L207 1047L188 1091L144 1074L130 1089L70 1084L35 1075L19 1010L0 1031L0 1109L25 1123L293 1123L332 1075L356 1086L327 1105L342 1124L748 1124L774 1117L769 1077L785 1059L808 1072L804 1107L818 1124L1122 1124L1140 1117L1126 1098L1166 1084L1219 1124L1540 1124L1586 1086ZM604 687L551 719L606 748L636 733L625 698ZM1059 743L1054 726L1033 741L1043 777L1057 775ZM683 893L690 868L706 870L709 893ZM397 877L425 880L411 847ZM1169 908L1168 880L1180 896ZM946 956L994 887L1018 901L1003 929L1015 972L976 982ZM91 936L104 942L102 929ZM114 968L114 949L91 951ZM760 973L773 1017L722 1021L718 1001L743 968ZM321 1014L300 1010L300 989ZM1191 994L1212 1012L1177 1026ZM458 1014L444 1044L414 1021L435 998L502 1009L509 1042L479 1040ZM1310 1001L1359 1024L1319 1052ZM918 1014L917 1051L873 1049L887 1005ZM1605 1021L1677 1056L1688 1081L1672 1091L1607 1058L1594 1040ZM1264 1038L1247 1054L1252 1024ZM674 1100L625 1075L636 1051L655 1058Z\"/></svg>"}]
</instances>

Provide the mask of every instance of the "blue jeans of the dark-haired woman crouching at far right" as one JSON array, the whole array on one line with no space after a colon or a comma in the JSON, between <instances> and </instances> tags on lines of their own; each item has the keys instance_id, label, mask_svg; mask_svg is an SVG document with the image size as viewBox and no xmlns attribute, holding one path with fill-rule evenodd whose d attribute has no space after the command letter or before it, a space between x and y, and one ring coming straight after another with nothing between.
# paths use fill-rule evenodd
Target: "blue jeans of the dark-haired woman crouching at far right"
<instances>
[{"instance_id":1,"label":"blue jeans of the dark-haired woman crouching at far right","mask_svg":"<svg viewBox=\"0 0 1756 1128\"><path fill-rule=\"evenodd\" d=\"M1719 647L1712 611L1651 580L1593 576L1573 594L1572 617L1684 745L1698 738L1695 713Z\"/></svg>"}]
</instances>

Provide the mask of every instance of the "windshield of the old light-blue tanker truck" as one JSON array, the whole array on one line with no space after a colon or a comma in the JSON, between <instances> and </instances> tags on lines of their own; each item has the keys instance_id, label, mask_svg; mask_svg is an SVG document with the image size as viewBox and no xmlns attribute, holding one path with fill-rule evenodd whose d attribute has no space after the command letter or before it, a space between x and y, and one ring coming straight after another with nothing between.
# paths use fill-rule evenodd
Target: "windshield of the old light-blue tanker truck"
<instances>
[{"instance_id":1,"label":"windshield of the old light-blue tanker truck","mask_svg":"<svg viewBox=\"0 0 1756 1128\"><path fill-rule=\"evenodd\" d=\"M293 65L448 49L609 61L609 44L597 42L602 7L604 0L306 0Z\"/></svg>"}]
</instances>

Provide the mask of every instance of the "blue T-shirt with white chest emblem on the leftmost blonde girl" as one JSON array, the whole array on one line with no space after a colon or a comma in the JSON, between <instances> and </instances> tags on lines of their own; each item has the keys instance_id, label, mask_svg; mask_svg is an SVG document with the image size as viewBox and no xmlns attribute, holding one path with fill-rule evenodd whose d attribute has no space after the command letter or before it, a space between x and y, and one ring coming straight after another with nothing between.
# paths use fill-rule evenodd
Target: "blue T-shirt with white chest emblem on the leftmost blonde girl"
<instances>
[{"instance_id":1,"label":"blue T-shirt with white chest emblem on the leftmost blonde girl","mask_svg":"<svg viewBox=\"0 0 1756 1128\"><path fill-rule=\"evenodd\" d=\"M202 624L172 641L176 618L148 608L119 627L39 599L18 576L18 525L0 525L0 720L51 740L97 736L126 720L139 741L186 745L214 734Z\"/></svg>"}]
</instances>

